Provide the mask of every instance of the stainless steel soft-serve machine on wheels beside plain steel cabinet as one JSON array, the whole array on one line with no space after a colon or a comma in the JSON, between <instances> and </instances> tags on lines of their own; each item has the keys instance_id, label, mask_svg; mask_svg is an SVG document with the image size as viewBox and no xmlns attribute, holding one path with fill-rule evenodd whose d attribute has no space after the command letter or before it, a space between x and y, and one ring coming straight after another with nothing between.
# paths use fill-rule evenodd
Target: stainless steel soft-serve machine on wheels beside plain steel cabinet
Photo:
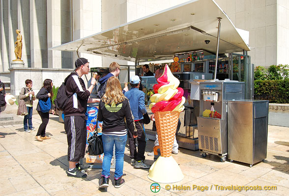
<instances>
[{"instance_id":1,"label":"stainless steel soft-serve machine on wheels beside plain steel cabinet","mask_svg":"<svg viewBox=\"0 0 289 196\"><path fill-rule=\"evenodd\" d=\"M200 82L199 149L218 155L221 162L228 154L228 100L244 99L245 83L232 80ZM214 111L212 110L212 106ZM206 111L205 111L206 110ZM204 112L204 113L203 113ZM210 114L203 116L203 114Z\"/></svg>"}]
</instances>

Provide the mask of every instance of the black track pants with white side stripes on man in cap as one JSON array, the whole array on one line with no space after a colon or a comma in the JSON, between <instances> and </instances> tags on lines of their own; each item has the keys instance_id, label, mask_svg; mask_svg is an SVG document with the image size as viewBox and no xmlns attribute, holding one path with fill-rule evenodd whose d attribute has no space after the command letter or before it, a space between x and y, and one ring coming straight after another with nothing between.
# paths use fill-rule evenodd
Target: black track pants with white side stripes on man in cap
<instances>
[{"instance_id":1,"label":"black track pants with white side stripes on man in cap","mask_svg":"<svg viewBox=\"0 0 289 196\"><path fill-rule=\"evenodd\" d=\"M79 162L84 158L87 144L85 116L64 117L64 129L68 143L68 161Z\"/></svg>"}]
</instances>

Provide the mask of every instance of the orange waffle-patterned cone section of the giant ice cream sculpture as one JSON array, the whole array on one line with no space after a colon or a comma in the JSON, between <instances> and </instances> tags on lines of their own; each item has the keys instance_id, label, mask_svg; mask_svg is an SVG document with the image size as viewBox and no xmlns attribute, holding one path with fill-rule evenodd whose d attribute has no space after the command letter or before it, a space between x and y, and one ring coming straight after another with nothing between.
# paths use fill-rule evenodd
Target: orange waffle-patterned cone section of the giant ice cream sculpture
<instances>
[{"instance_id":1,"label":"orange waffle-patterned cone section of the giant ice cream sculpture","mask_svg":"<svg viewBox=\"0 0 289 196\"><path fill-rule=\"evenodd\" d=\"M178 117L178 111L154 113L161 156L163 157L169 157L172 155L173 140L175 137Z\"/></svg>"}]
</instances>

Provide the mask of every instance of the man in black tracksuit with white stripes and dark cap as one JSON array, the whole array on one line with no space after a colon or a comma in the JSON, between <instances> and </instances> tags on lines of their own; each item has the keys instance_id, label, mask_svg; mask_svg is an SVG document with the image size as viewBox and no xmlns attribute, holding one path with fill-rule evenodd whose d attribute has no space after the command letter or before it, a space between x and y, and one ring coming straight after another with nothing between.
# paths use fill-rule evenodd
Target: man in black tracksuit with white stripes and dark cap
<instances>
[{"instance_id":1,"label":"man in black tracksuit with white stripes and dark cap","mask_svg":"<svg viewBox=\"0 0 289 196\"><path fill-rule=\"evenodd\" d=\"M64 108L64 129L67 134L68 143L68 176L87 177L87 174L81 172L87 169L87 166L80 165L78 162L84 158L87 142L86 111L87 101L97 102L99 99L89 98L89 95L95 86L96 80L91 79L91 85L86 89L81 76L89 72L87 59L78 58L75 61L76 70L70 73L65 80L65 93L67 95L67 104ZM89 99L88 99L89 98Z\"/></svg>"}]
</instances>

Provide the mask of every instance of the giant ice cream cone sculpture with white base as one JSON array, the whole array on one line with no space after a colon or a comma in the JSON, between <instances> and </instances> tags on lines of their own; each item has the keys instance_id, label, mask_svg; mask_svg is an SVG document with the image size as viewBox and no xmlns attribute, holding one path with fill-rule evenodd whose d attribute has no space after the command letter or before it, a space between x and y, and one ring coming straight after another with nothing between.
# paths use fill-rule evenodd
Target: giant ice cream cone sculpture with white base
<instances>
[{"instance_id":1,"label":"giant ice cream cone sculpture with white base","mask_svg":"<svg viewBox=\"0 0 289 196\"><path fill-rule=\"evenodd\" d=\"M184 91L177 88L179 80L165 66L164 73L153 86L156 94L152 95L149 108L154 113L161 156L153 163L148 178L160 183L173 183L184 178L178 164L172 157L173 140L179 118L184 110Z\"/></svg>"}]
</instances>

